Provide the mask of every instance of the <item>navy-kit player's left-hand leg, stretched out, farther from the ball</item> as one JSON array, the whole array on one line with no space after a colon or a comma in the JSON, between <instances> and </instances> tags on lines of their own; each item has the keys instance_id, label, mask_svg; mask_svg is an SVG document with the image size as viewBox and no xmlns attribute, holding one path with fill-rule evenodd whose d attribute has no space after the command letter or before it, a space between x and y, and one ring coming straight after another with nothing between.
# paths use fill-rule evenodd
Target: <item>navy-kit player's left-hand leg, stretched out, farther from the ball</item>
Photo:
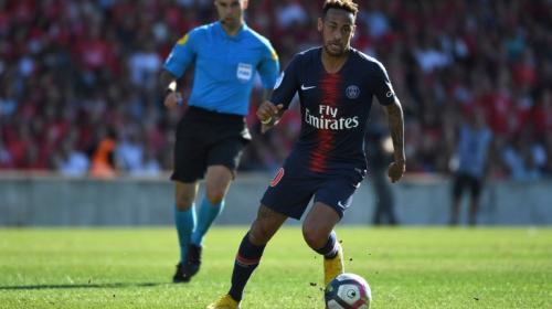
<instances>
[{"instance_id":1,"label":"navy-kit player's left-hand leg, stretched out, farther from the ball","mask_svg":"<svg viewBox=\"0 0 552 309\"><path fill-rule=\"evenodd\" d=\"M286 215L277 213L265 205L259 206L257 219L253 222L250 231L240 244L229 294L208 306L208 309L238 308L245 285L258 266L266 244L276 234L286 219Z\"/></svg>"}]
</instances>

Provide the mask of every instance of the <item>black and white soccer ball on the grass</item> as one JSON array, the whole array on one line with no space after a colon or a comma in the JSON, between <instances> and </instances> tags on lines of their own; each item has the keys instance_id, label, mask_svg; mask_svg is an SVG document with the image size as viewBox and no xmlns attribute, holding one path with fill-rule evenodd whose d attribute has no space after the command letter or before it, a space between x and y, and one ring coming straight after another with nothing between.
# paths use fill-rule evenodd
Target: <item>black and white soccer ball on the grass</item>
<instances>
[{"instance_id":1,"label":"black and white soccer ball on the grass","mask_svg":"<svg viewBox=\"0 0 552 309\"><path fill-rule=\"evenodd\" d=\"M341 274L326 287L325 299L327 309L368 309L372 291L361 276Z\"/></svg>"}]
</instances>

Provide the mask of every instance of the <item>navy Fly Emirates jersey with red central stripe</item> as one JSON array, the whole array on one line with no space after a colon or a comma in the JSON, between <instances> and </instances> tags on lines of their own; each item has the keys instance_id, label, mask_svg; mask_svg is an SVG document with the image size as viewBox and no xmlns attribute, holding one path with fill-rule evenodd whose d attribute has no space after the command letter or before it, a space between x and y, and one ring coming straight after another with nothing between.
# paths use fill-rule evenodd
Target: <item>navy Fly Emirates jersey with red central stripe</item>
<instances>
[{"instance_id":1,"label":"navy Fly Emirates jersey with red central stripe","mask_svg":"<svg viewBox=\"0 0 552 309\"><path fill-rule=\"evenodd\" d=\"M388 73L380 62L351 49L341 70L330 74L321 55L321 47L295 55L270 98L287 108L299 95L301 131L286 164L314 172L365 170L364 135L372 98L383 105L395 99Z\"/></svg>"}]
</instances>

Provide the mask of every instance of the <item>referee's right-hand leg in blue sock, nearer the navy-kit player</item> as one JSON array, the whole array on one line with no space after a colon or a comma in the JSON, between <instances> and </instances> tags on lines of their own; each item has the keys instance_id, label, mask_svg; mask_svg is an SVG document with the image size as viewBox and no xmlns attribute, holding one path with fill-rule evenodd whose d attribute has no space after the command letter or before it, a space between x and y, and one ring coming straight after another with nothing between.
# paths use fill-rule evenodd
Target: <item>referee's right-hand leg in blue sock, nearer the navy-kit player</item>
<instances>
[{"instance_id":1,"label":"referee's right-hand leg in blue sock, nearer the navy-kit player","mask_svg":"<svg viewBox=\"0 0 552 309\"><path fill-rule=\"evenodd\" d=\"M232 181L232 172L224 166L211 166L205 175L205 196L198 213L198 225L192 233L188 248L187 274L194 276L201 266L201 249L213 221L224 209L224 196Z\"/></svg>"}]
</instances>

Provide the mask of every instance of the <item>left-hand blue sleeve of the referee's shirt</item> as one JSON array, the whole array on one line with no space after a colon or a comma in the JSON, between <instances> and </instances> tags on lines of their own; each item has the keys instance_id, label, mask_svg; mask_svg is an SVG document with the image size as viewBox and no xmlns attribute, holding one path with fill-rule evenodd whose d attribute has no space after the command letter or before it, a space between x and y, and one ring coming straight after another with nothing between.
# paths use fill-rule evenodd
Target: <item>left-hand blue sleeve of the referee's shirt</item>
<instances>
[{"instance_id":1,"label":"left-hand blue sleeve of the referee's shirt","mask_svg":"<svg viewBox=\"0 0 552 309\"><path fill-rule=\"evenodd\" d=\"M169 71L176 77L181 77L185 68L195 58L199 31L192 30L184 34L172 47L171 53L164 61L163 68Z\"/></svg>"}]
</instances>

